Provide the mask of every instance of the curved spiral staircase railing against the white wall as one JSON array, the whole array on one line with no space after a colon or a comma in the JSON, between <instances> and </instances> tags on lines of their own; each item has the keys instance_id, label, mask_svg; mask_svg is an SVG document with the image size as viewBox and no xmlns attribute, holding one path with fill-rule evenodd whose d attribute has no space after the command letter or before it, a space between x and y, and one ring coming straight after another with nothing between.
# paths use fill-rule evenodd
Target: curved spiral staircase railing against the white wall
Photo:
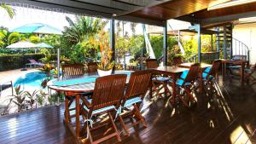
<instances>
[{"instance_id":1,"label":"curved spiral staircase railing against the white wall","mask_svg":"<svg viewBox=\"0 0 256 144\"><path fill-rule=\"evenodd\" d=\"M250 49L247 44L232 38L232 59L250 60Z\"/></svg>"}]
</instances>

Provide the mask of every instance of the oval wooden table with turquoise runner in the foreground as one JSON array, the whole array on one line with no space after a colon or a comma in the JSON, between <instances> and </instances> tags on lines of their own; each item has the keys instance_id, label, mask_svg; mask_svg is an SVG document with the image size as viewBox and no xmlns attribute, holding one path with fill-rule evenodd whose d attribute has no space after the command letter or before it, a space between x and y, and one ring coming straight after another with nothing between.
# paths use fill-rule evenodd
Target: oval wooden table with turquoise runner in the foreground
<instances>
[{"instance_id":1,"label":"oval wooden table with turquoise runner in the foreground","mask_svg":"<svg viewBox=\"0 0 256 144\"><path fill-rule=\"evenodd\" d=\"M113 74L127 74L126 83L128 84L131 71L114 71ZM95 87L96 78L98 75L81 75L75 78L64 78L61 80L52 79L48 83L48 88L55 90L57 93L65 93L67 96L75 95L75 129L68 117L68 100L65 99L65 118L64 123L67 128L71 130L73 135L79 140L80 135L80 96L82 93L93 92Z\"/></svg>"}]
</instances>

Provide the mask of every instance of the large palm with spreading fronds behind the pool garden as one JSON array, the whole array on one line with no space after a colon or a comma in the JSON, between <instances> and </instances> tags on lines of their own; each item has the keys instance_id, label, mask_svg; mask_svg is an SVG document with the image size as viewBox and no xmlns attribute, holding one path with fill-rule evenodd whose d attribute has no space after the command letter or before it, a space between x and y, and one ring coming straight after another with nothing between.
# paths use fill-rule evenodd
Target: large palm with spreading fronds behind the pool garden
<instances>
[{"instance_id":1,"label":"large palm with spreading fronds behind the pool garden","mask_svg":"<svg viewBox=\"0 0 256 144\"><path fill-rule=\"evenodd\" d=\"M63 37L69 43L82 43L89 40L90 37L96 36L96 33L102 29L102 20L89 16L77 16L74 22L69 17L66 17L69 27L64 28Z\"/></svg>"}]
</instances>

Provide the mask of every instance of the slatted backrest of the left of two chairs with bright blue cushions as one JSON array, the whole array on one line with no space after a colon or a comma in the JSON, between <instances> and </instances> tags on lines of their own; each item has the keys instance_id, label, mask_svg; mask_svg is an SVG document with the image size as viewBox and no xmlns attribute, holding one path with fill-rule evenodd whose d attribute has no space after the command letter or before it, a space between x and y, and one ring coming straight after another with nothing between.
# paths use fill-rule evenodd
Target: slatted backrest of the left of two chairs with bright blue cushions
<instances>
[{"instance_id":1,"label":"slatted backrest of the left of two chairs with bright blue cushions","mask_svg":"<svg viewBox=\"0 0 256 144\"><path fill-rule=\"evenodd\" d=\"M195 64L191 65L189 68L188 75L185 78L184 82L185 83L194 82L196 80L196 78L198 77L199 69L200 69L200 63L195 63Z\"/></svg>"}]
</instances>

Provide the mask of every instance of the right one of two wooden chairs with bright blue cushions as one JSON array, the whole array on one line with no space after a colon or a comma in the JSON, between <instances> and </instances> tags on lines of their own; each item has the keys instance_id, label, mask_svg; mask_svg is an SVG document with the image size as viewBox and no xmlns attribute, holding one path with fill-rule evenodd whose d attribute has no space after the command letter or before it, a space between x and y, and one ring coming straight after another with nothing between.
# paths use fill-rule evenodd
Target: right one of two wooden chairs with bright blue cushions
<instances>
[{"instance_id":1,"label":"right one of two wooden chairs with bright blue cushions","mask_svg":"<svg viewBox=\"0 0 256 144\"><path fill-rule=\"evenodd\" d=\"M221 65L221 60L214 60L211 67L205 69L202 73L202 78L205 84L205 90L207 92L212 92L215 79L218 77L218 69Z\"/></svg>"}]
</instances>

